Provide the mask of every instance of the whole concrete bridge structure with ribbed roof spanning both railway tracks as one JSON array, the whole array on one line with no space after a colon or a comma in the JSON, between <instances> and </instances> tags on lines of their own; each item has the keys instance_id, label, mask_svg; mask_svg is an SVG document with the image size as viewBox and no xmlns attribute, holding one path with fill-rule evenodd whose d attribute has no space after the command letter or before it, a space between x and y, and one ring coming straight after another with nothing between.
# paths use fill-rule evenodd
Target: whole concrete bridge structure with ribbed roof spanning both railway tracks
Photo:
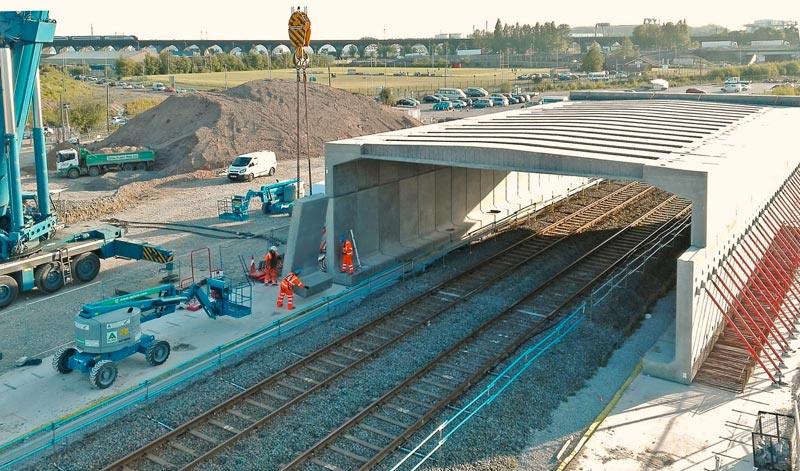
<instances>
[{"instance_id":1,"label":"whole concrete bridge structure with ribbed roof spanning both railway tracks","mask_svg":"<svg viewBox=\"0 0 800 471\"><path fill-rule=\"evenodd\" d=\"M692 203L674 329L645 357L645 371L691 382L726 321L704 287L800 163L790 143L800 102L583 95L590 100L328 143L326 195L297 205L288 266L314 271L316 256L303 253L316 253L321 220L328 272L306 276L350 284L593 179L645 182ZM350 230L366 268L355 277L335 272L338 237Z\"/></svg>"}]
</instances>

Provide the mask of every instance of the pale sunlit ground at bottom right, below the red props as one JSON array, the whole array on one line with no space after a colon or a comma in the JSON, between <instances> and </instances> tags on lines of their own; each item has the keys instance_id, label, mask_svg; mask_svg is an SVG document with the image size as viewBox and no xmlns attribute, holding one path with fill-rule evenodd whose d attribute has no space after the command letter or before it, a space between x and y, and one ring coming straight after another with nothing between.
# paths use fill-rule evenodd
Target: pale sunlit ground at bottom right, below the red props
<instances>
[{"instance_id":1,"label":"pale sunlit ground at bottom right, below the red props","mask_svg":"<svg viewBox=\"0 0 800 471\"><path fill-rule=\"evenodd\" d=\"M793 415L800 339L789 346L784 384L773 384L756 367L741 394L636 376L568 469L753 470L751 432L758 412Z\"/></svg>"}]
</instances>

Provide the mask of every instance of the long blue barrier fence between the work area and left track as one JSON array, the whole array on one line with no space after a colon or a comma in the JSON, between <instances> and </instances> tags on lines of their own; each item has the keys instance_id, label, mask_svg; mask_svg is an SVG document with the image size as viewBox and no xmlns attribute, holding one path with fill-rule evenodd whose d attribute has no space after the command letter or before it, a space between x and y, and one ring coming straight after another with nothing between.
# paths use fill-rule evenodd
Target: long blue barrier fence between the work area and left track
<instances>
[{"instance_id":1,"label":"long blue barrier fence between the work area and left track","mask_svg":"<svg viewBox=\"0 0 800 471\"><path fill-rule=\"evenodd\" d=\"M593 180L573 189L563 197L553 198L547 203L541 204L539 209L546 204L557 202L561 198L568 198L598 182L599 180ZM439 247L433 253L428 252L423 256L404 261L343 292L320 298L311 305L299 308L293 314L277 319L243 337L221 344L154 378L12 439L0 445L0 470L8 469L51 447L68 446L70 439L77 438L92 427L97 427L104 419L182 386L200 374L216 370L227 364L232 358L244 355L256 347L264 347L269 342L275 342L297 328L346 312L361 299L403 279L409 273L423 271L450 251L516 226L536 210L536 205L522 208L490 226L474 231L463 240Z\"/></svg>"}]
</instances>

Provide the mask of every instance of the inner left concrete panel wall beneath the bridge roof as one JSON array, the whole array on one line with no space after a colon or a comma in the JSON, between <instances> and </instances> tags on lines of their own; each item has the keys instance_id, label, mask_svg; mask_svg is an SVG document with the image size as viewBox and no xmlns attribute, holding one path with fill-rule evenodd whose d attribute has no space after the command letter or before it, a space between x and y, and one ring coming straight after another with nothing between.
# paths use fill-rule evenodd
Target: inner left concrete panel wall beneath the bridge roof
<instances>
[{"instance_id":1,"label":"inner left concrete panel wall beneath the bridge roof","mask_svg":"<svg viewBox=\"0 0 800 471\"><path fill-rule=\"evenodd\" d=\"M356 158L328 166L328 270L352 284L589 181L584 177ZM340 237L355 238L362 270L338 273Z\"/></svg>"}]
</instances>

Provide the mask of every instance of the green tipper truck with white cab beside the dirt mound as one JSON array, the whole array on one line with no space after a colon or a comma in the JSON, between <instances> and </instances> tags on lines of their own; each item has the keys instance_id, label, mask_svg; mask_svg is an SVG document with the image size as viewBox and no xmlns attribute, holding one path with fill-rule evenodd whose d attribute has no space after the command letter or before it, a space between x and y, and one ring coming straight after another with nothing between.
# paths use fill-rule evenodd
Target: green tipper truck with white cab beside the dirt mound
<instances>
[{"instance_id":1,"label":"green tipper truck with white cab beside the dirt mound","mask_svg":"<svg viewBox=\"0 0 800 471\"><path fill-rule=\"evenodd\" d=\"M149 170L155 160L155 152L146 148L127 152L92 152L79 147L58 151L56 170L60 177L97 177L111 170Z\"/></svg>"}]
</instances>

